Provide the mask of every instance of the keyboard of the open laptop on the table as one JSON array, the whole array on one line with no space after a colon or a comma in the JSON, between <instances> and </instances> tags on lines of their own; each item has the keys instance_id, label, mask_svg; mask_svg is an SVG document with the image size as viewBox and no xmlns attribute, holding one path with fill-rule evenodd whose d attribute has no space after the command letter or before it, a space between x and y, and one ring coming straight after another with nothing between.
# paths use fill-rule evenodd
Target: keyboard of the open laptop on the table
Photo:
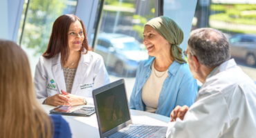
<instances>
[{"instance_id":1,"label":"keyboard of the open laptop on the table","mask_svg":"<svg viewBox=\"0 0 256 138\"><path fill-rule=\"evenodd\" d=\"M114 137L125 137L125 138L138 138L138 137L152 137L153 135L150 135L156 131L158 131L160 128L163 128L163 126L136 126L132 128L131 130L128 130L125 133L118 133L118 135L115 135Z\"/></svg>"}]
</instances>

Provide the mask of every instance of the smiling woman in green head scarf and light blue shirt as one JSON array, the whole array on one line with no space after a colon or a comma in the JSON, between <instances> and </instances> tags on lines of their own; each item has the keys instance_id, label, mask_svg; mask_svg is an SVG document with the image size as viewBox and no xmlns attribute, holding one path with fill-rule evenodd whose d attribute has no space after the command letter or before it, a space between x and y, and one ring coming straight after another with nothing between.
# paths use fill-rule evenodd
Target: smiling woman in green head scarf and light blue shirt
<instances>
[{"instance_id":1,"label":"smiling woman in green head scarf and light blue shirt","mask_svg":"<svg viewBox=\"0 0 256 138\"><path fill-rule=\"evenodd\" d=\"M170 117L176 106L191 106L197 83L182 58L183 31L169 17L148 21L143 43L151 58L140 63L129 107Z\"/></svg>"}]
</instances>

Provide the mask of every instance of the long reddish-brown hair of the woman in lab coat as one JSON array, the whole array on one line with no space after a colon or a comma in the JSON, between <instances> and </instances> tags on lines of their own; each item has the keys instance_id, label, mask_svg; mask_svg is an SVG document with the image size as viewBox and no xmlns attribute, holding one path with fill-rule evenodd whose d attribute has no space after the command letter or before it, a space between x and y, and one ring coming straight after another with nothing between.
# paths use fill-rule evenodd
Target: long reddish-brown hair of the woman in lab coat
<instances>
[{"instance_id":1,"label":"long reddish-brown hair of the woman in lab coat","mask_svg":"<svg viewBox=\"0 0 256 138\"><path fill-rule=\"evenodd\" d=\"M86 52L84 52L84 54L87 53L89 50L89 44L86 37L84 23L74 14L64 14L58 17L53 23L53 30L48 43L48 48L46 52L44 52L43 57L51 59L52 57L55 57L55 55L61 53L62 65L66 63L69 56L68 30L71 23L75 21L80 21L84 32L84 41L82 42L82 48L80 51L84 52L85 49Z\"/></svg>"}]
</instances>

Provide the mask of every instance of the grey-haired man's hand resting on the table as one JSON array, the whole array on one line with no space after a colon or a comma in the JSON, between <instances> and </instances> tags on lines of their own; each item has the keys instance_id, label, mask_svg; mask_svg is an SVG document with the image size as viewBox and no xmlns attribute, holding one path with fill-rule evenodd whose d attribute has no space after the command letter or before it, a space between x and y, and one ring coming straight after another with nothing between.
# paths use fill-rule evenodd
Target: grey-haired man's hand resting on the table
<instances>
[{"instance_id":1,"label":"grey-haired man's hand resting on the table","mask_svg":"<svg viewBox=\"0 0 256 138\"><path fill-rule=\"evenodd\" d=\"M188 106L176 106L174 110L171 112L171 121L176 121L176 118L179 117L181 120L183 120L185 113L188 111Z\"/></svg>"}]
</instances>

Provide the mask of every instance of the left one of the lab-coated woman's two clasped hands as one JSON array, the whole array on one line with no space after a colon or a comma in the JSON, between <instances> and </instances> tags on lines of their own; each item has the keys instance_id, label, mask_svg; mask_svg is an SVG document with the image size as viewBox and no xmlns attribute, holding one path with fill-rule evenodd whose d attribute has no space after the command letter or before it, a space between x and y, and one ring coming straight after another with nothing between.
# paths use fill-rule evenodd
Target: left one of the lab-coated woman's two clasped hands
<instances>
[{"instance_id":1,"label":"left one of the lab-coated woman's two clasped hands","mask_svg":"<svg viewBox=\"0 0 256 138\"><path fill-rule=\"evenodd\" d=\"M62 106L71 104L68 97L63 94L56 94L51 97L47 97L45 103L51 106Z\"/></svg>"}]
</instances>

